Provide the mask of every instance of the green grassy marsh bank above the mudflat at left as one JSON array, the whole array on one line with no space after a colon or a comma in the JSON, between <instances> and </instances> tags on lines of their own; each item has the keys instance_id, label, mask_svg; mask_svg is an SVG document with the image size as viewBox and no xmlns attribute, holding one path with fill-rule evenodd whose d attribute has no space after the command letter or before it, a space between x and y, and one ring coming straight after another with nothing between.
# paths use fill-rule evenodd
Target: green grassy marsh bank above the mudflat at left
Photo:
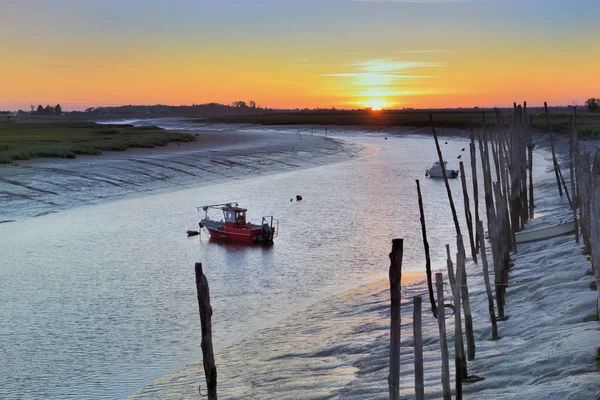
<instances>
[{"instance_id":1,"label":"green grassy marsh bank above the mudflat at left","mask_svg":"<svg viewBox=\"0 0 600 400\"><path fill-rule=\"evenodd\" d=\"M158 127L107 126L61 119L0 118L0 164L39 157L75 158L104 151L153 148L172 142L193 142L193 135Z\"/></svg>"}]
</instances>

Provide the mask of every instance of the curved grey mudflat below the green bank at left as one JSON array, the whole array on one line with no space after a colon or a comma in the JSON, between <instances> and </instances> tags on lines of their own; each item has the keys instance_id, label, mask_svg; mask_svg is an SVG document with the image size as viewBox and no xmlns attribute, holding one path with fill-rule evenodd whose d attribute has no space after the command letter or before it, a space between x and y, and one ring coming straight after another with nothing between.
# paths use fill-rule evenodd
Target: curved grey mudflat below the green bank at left
<instances>
[{"instance_id":1,"label":"curved grey mudflat below the green bank at left","mask_svg":"<svg viewBox=\"0 0 600 400\"><path fill-rule=\"evenodd\" d=\"M195 143L0 166L0 223L182 187L307 168L361 147L292 132L202 130Z\"/></svg>"}]
</instances>

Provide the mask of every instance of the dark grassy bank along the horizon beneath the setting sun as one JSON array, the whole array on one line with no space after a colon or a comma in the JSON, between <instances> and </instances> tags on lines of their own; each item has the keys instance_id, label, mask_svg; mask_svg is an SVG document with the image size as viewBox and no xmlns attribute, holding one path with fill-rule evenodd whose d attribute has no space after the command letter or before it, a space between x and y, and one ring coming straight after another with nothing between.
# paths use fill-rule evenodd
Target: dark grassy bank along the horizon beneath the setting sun
<instances>
[{"instance_id":1,"label":"dark grassy bank along the horizon beneath the setting sun","mask_svg":"<svg viewBox=\"0 0 600 400\"><path fill-rule=\"evenodd\" d=\"M485 124L496 126L497 118L493 110L448 110L448 111L299 111L281 112L263 115L244 115L232 117L211 118L210 122L216 123L249 123L262 125L366 125L366 126L411 126L428 127L429 114L433 114L436 126L442 128L470 129L481 128L483 115ZM510 110L502 110L501 115L505 122L509 121ZM544 131L546 117L542 109L529 110L533 116L532 126ZM566 133L569 128L571 114L566 109L555 110L550 113L550 123L554 132ZM206 122L206 120L204 120ZM600 138L600 114L580 113L577 126L582 137Z\"/></svg>"}]
</instances>

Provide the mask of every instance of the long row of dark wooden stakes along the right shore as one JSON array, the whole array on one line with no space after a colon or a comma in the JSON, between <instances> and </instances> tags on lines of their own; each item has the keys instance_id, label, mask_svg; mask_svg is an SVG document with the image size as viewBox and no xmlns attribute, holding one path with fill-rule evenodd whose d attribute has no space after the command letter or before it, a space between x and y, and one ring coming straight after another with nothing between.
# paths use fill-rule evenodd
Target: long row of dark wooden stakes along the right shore
<instances>
[{"instance_id":1,"label":"long row of dark wooden stakes along the right shore","mask_svg":"<svg viewBox=\"0 0 600 400\"><path fill-rule=\"evenodd\" d=\"M560 165L556 156L554 136L552 134L547 106L546 118L550 134L550 143L553 157L553 165L556 171L557 183L560 196L563 189L567 197L569 192L560 171ZM485 114L482 114L483 126L485 127ZM477 147L475 134L471 132L470 156L472 171L472 193L474 197L475 219L471 214L470 199L465 176L463 162L460 162L460 176L465 207L465 219L468 228L471 258L478 263L477 255L481 257L481 268L488 300L488 310L491 324L491 339L500 338L498 333L498 321L508 319L505 311L506 289L509 284L509 271L512 267L511 253L517 252L515 233L524 228L525 223L534 216L534 191L533 191L533 132L530 126L531 118L527 114L527 105L517 106L515 104L509 124L503 121L502 115L496 111L497 129L484 131L477 134L479 144L479 156L481 170L483 171L483 185L485 193L485 210L487 228L494 273L494 292L489 276L489 265L487 260L486 244L484 238L484 225L479 216L479 188L477 181ZM436 290L433 290L431 262L429 256L429 244L427 241L425 216L419 180L417 194L421 217L421 228L423 234L423 245L426 258L426 273L429 300L434 316L437 318L440 333L440 348L442 356L442 393L444 400L451 399L448 344L445 329L445 310L452 308L455 319L455 371L456 385L455 398L462 399L462 386L465 382L475 382L483 378L468 374L467 361L473 360L476 354L476 344L473 334L473 320L469 301L469 290L467 273L465 271L466 251L463 236L458 221L452 192L446 175L443 155L438 141L438 135L433 127L433 118L430 115L432 133L438 153L440 165L450 209L456 229L457 254L456 270L451 258L450 246L446 245L448 280L452 287L454 304L446 304L443 296L443 275L435 275ZM593 260L600 260L600 151L596 154L592 163L591 155L584 154L582 162L579 159L579 146L577 144L576 120L572 120L572 142L570 151L571 167L571 193L577 193L574 200L569 198L569 205L573 210L573 217L577 226L578 207L580 210L581 232L584 236L585 249L593 253ZM493 167L492 168L492 163ZM573 172L575 171L575 172ZM495 178L495 181L493 181ZM575 183L577 182L577 184ZM575 239L579 242L579 229L576 229ZM392 241L392 252L390 253L390 290L391 290L391 335L390 335L390 374L388 377L390 400L400 399L399 366L400 366L400 297L401 297L401 269L402 269L402 239ZM597 287L600 288L600 272L592 265L595 271ZM600 311L600 289L598 296L598 309ZM437 296L436 296L437 294ZM415 396L417 400L424 399L423 386L423 347L421 333L421 303L420 296L413 298L413 337L414 337L414 371L415 371ZM466 348L463 343L463 318L466 337ZM598 314L600 317L600 314Z\"/></svg>"}]
</instances>

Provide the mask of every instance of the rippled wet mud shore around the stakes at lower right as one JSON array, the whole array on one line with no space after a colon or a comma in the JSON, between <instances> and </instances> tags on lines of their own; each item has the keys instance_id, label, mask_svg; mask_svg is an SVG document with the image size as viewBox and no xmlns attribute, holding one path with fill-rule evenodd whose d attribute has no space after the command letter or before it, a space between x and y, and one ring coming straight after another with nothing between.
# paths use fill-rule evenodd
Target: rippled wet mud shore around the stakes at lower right
<instances>
[{"instance_id":1,"label":"rippled wet mud shore around the stakes at lower right","mask_svg":"<svg viewBox=\"0 0 600 400\"><path fill-rule=\"evenodd\" d=\"M559 156L564 156L565 142L557 147ZM570 209L566 199L556 193L553 174L547 173L538 180L535 190L536 217L526 230L569 218ZM506 303L511 318L499 323L501 339L496 342L487 340L491 327L481 266L467 261L478 346L469 372L486 379L465 385L465 398L595 398L600 392L600 366L593 357L600 324L586 322L594 313L596 292L589 289L593 276L588 274L590 263L581 254L581 245L574 243L572 235L523 244L513 260ZM445 266L438 263L432 270L444 271ZM412 296L424 297L427 398L441 398L439 338L437 323L427 312L426 281L417 278L407 282L404 278L403 275L403 316L412 315ZM221 396L387 399L388 290L387 279L381 278L331 296L218 354ZM300 321L312 322L300 326ZM447 320L447 324L448 342L452 343L453 322ZM404 317L403 395L413 391L411 332L412 321ZM254 361L244 364L243 360L248 359ZM453 368L451 365L451 374ZM192 396L197 393L198 382L204 387L203 376L202 363L194 363L129 398L145 399L157 394L166 399Z\"/></svg>"}]
</instances>

